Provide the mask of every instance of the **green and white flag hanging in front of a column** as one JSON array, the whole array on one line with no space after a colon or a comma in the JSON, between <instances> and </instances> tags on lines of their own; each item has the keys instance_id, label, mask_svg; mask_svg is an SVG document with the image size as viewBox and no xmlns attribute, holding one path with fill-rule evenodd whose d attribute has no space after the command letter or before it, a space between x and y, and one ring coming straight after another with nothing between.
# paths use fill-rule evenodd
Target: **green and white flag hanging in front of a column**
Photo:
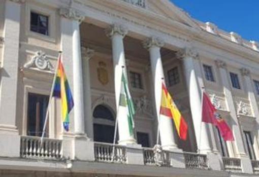
<instances>
[{"instance_id":1,"label":"green and white flag hanging in front of a column","mask_svg":"<svg viewBox=\"0 0 259 177\"><path fill-rule=\"evenodd\" d=\"M120 86L120 98L119 98L119 110L125 109L127 113L127 122L128 122L128 130L130 131L130 135L134 134L134 115L135 108L133 99L130 94L130 90L128 89L127 81L124 77L124 73L122 72L121 76L121 86Z\"/></svg>"}]
</instances>

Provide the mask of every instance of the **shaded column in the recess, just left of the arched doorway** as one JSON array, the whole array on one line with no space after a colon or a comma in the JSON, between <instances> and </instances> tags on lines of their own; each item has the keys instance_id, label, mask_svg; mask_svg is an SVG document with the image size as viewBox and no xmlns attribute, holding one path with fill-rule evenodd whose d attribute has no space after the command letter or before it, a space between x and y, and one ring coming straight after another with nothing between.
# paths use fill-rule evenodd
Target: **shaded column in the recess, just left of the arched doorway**
<instances>
[{"instance_id":1,"label":"shaded column in the recess, just left of the arched doorway","mask_svg":"<svg viewBox=\"0 0 259 177\"><path fill-rule=\"evenodd\" d=\"M81 47L82 51L82 64L83 64L83 84L84 84L84 115L86 134L89 138L93 139L93 120L91 109L91 81L90 81L90 66L89 60L94 54L94 50Z\"/></svg>"}]
</instances>

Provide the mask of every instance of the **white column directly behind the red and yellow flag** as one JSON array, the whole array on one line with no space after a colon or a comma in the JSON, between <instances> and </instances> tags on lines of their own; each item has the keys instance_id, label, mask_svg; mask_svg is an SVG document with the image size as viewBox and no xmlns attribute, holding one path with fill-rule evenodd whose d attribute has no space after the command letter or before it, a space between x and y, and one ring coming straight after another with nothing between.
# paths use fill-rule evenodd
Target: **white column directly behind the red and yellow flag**
<instances>
[{"instance_id":1,"label":"white column directly behind the red and yellow flag","mask_svg":"<svg viewBox=\"0 0 259 177\"><path fill-rule=\"evenodd\" d=\"M143 42L144 47L149 51L151 71L154 85L156 117L159 122L159 134L163 149L177 149L174 139L173 121L167 117L160 117L160 103L162 93L162 82L165 78L163 64L160 55L160 48L164 42L158 38L148 38Z\"/></svg>"}]
</instances>

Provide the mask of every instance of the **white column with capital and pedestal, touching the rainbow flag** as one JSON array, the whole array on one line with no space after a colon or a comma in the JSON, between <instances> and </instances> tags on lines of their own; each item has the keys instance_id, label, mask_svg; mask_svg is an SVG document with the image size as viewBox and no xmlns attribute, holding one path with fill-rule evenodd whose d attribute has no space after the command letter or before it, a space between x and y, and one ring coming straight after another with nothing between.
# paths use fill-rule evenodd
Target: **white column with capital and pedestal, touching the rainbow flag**
<instances>
[{"instance_id":1,"label":"white column with capital and pedestal, touching the rainbow flag","mask_svg":"<svg viewBox=\"0 0 259 177\"><path fill-rule=\"evenodd\" d=\"M60 46L64 69L74 97L74 109L70 117L74 120L72 134L63 134L63 155L71 159L94 160L92 141L88 141L84 122L84 94L79 25L84 16L72 8L60 11ZM72 122L72 120L71 120Z\"/></svg>"}]
</instances>

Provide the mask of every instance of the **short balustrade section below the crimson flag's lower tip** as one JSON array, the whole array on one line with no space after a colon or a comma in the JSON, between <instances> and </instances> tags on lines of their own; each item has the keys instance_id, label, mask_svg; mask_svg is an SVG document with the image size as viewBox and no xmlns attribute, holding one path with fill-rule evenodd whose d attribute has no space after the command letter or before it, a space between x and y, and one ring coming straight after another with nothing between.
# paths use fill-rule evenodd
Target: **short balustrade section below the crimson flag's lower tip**
<instances>
[{"instance_id":1,"label":"short balustrade section below the crimson flag's lower tip","mask_svg":"<svg viewBox=\"0 0 259 177\"><path fill-rule=\"evenodd\" d=\"M242 172L241 160L238 158L222 157L225 171Z\"/></svg>"}]
</instances>

